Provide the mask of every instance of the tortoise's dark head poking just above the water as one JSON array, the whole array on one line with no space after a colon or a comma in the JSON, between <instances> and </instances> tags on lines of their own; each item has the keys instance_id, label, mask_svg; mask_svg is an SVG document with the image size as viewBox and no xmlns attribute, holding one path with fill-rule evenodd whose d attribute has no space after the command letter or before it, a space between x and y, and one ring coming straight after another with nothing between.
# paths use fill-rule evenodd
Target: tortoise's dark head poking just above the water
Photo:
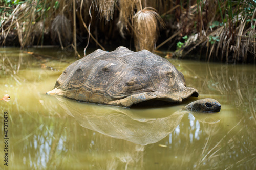
<instances>
[{"instance_id":1,"label":"tortoise's dark head poking just above the water","mask_svg":"<svg viewBox=\"0 0 256 170\"><path fill-rule=\"evenodd\" d=\"M189 103L185 109L205 113L220 112L221 104L215 99L206 98Z\"/></svg>"}]
</instances>

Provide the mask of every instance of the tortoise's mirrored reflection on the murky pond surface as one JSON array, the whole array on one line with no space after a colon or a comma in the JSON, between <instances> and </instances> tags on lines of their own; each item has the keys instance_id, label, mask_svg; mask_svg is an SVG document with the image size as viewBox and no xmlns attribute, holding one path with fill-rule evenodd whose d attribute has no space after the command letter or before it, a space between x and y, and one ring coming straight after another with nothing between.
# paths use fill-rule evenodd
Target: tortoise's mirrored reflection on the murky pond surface
<instances>
[{"instance_id":1,"label":"tortoise's mirrored reflection on the murky pond surface","mask_svg":"<svg viewBox=\"0 0 256 170\"><path fill-rule=\"evenodd\" d=\"M220 114L200 114L184 109L176 110L177 107L175 109L168 108L167 114L165 114L166 108L163 107L143 109L142 111L141 109L84 104L59 96L56 98L63 111L74 117L80 126L140 145L156 143L168 136L176 129L186 114L191 113L191 116L204 126L211 124L210 127L219 127L220 125L218 124Z\"/></svg>"}]
</instances>

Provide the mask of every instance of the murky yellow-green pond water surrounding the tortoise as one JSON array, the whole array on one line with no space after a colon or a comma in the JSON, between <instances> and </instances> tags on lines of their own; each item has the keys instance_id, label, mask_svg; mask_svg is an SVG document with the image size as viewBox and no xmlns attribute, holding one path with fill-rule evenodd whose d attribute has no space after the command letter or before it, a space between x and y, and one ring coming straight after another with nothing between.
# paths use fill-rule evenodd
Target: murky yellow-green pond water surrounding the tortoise
<instances>
[{"instance_id":1,"label":"murky yellow-green pond water surrounding the tortoise","mask_svg":"<svg viewBox=\"0 0 256 170\"><path fill-rule=\"evenodd\" d=\"M256 168L255 66L170 60L199 99L222 104L220 113L191 114L181 109L194 99L126 109L48 96L76 59L30 51L53 58L0 50L0 97L11 97L0 101L0 169Z\"/></svg>"}]
</instances>

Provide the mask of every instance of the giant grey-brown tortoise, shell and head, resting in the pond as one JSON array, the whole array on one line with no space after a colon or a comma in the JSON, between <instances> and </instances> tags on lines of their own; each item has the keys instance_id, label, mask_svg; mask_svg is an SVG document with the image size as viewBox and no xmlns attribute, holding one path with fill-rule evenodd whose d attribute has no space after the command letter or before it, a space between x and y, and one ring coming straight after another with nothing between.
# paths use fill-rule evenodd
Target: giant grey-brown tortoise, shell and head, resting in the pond
<instances>
[{"instance_id":1,"label":"giant grey-brown tortoise, shell and head, resting in the pond","mask_svg":"<svg viewBox=\"0 0 256 170\"><path fill-rule=\"evenodd\" d=\"M83 102L131 107L180 103L198 91L186 87L184 76L166 59L147 50L125 47L106 52L96 50L75 61L57 79L51 95ZM219 112L214 99L198 100L185 107L200 112Z\"/></svg>"}]
</instances>

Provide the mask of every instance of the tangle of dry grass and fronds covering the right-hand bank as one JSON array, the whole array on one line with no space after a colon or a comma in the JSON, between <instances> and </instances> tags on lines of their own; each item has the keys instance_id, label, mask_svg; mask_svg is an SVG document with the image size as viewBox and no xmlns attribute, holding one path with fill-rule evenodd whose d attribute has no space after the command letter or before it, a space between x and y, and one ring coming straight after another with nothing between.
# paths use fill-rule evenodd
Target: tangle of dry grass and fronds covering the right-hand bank
<instances>
[{"instance_id":1,"label":"tangle of dry grass and fronds covering the right-hand bank","mask_svg":"<svg viewBox=\"0 0 256 170\"><path fill-rule=\"evenodd\" d=\"M250 57L256 54L254 41L256 9L252 16L250 12L242 9L250 9L250 3L254 2L197 1L190 7L190 13L188 10L183 10L179 21L181 36L190 35L190 37L177 54L186 56L195 47L198 49L200 45L202 47L206 45L208 61L215 58L226 63L248 62L248 54ZM193 20L196 23L194 27L191 26ZM250 24L248 20L251 20ZM214 21L218 21L219 25L212 28ZM187 48L186 53L182 53L184 48ZM254 57L253 60L255 59Z\"/></svg>"}]
</instances>

